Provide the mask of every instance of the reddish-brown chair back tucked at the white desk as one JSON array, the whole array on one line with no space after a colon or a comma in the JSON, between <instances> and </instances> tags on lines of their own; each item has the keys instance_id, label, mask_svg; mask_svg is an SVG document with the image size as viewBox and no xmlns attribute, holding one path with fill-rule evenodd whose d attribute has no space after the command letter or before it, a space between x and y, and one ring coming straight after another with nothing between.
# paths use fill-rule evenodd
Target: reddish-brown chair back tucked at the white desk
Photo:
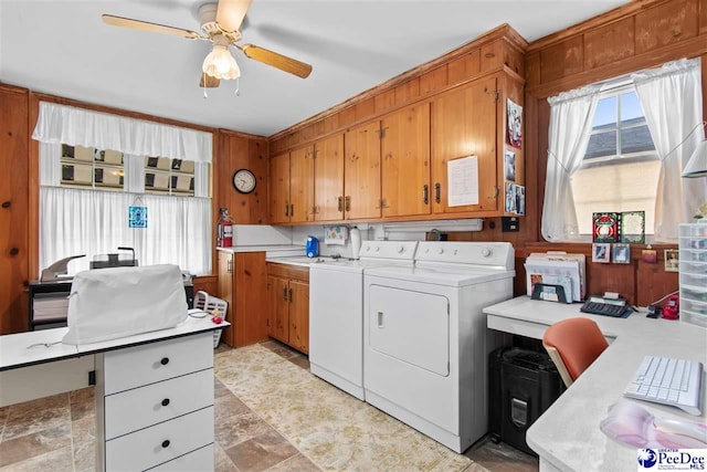
<instances>
[{"instance_id":1,"label":"reddish-brown chair back tucked at the white desk","mask_svg":"<svg viewBox=\"0 0 707 472\"><path fill-rule=\"evenodd\" d=\"M567 318L547 328L542 345L569 387L609 346L597 323Z\"/></svg>"}]
</instances>

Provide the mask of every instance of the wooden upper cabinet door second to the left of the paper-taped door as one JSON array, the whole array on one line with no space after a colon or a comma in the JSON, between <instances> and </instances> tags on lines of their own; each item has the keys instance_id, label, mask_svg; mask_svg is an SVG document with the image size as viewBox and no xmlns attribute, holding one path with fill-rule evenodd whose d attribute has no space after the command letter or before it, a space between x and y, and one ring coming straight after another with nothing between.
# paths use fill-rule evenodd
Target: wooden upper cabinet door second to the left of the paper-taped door
<instances>
[{"instance_id":1,"label":"wooden upper cabinet door second to the left of the paper-taped door","mask_svg":"<svg viewBox=\"0 0 707 472\"><path fill-rule=\"evenodd\" d=\"M344 136L345 218L380 218L380 122Z\"/></svg>"}]
</instances>

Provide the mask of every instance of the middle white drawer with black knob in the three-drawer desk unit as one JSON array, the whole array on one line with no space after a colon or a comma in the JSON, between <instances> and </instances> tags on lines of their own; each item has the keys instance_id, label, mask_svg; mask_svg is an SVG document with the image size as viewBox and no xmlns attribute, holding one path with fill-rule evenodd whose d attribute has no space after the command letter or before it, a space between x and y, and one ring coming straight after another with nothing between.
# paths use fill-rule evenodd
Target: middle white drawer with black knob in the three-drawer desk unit
<instances>
[{"instance_id":1,"label":"middle white drawer with black knob in the three-drawer desk unit","mask_svg":"<svg viewBox=\"0 0 707 472\"><path fill-rule=\"evenodd\" d=\"M109 440L212 405L213 369L110 395L105 397L105 438Z\"/></svg>"}]
</instances>

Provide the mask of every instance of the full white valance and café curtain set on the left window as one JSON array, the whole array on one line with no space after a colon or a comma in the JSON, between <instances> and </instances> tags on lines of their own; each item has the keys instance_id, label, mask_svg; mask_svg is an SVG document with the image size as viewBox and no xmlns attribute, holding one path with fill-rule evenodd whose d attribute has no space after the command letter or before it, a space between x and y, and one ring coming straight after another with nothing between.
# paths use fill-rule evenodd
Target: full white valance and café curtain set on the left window
<instances>
[{"instance_id":1,"label":"full white valance and caf\u00e9 curtain set on the left window","mask_svg":"<svg viewBox=\"0 0 707 472\"><path fill-rule=\"evenodd\" d=\"M70 264L75 273L95 254L129 247L140 265L211 273L210 133L41 103L33 138L40 140L40 270L86 254ZM125 191L60 187L62 144L123 153ZM196 197L144 193L145 156L194 161ZM128 227L130 206L147 207L147 228Z\"/></svg>"}]
</instances>

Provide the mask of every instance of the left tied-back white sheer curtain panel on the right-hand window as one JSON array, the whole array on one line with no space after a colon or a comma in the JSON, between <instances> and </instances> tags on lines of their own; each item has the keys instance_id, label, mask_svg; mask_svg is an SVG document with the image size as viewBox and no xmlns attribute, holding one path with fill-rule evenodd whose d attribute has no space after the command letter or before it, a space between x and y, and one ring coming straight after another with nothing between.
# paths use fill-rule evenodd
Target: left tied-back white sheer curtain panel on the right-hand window
<instances>
[{"instance_id":1,"label":"left tied-back white sheer curtain panel on the right-hand window","mask_svg":"<svg viewBox=\"0 0 707 472\"><path fill-rule=\"evenodd\" d=\"M550 242L581 240L571 178L587 153L600 88L590 85L548 98L550 128L541 232Z\"/></svg>"}]
</instances>

